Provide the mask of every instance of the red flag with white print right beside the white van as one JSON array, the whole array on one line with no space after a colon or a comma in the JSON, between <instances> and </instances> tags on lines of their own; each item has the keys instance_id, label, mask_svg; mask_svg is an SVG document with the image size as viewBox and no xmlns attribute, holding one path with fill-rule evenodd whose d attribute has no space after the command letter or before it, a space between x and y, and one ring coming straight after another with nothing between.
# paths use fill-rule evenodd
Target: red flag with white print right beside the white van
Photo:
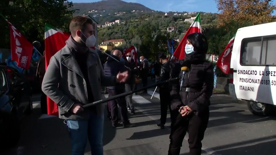
<instances>
[{"instance_id":1,"label":"red flag with white print right beside the white van","mask_svg":"<svg viewBox=\"0 0 276 155\"><path fill-rule=\"evenodd\" d=\"M228 44L226 45L225 49L221 53L216 62L216 65L223 71L223 73L228 74L230 70L230 62L231 62L231 55L233 50L235 37L233 37Z\"/></svg>"}]
</instances>

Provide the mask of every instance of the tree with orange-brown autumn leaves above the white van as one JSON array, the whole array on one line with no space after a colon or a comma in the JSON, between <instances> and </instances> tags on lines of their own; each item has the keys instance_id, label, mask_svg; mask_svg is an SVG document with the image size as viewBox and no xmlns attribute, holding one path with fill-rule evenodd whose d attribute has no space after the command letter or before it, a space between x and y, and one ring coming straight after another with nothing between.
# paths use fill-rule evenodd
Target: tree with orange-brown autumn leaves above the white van
<instances>
[{"instance_id":1,"label":"tree with orange-brown autumn leaves above the white van","mask_svg":"<svg viewBox=\"0 0 276 155\"><path fill-rule=\"evenodd\" d=\"M262 24L271 22L275 10L272 0L215 0L218 11L218 27L230 24L252 22Z\"/></svg>"}]
</instances>

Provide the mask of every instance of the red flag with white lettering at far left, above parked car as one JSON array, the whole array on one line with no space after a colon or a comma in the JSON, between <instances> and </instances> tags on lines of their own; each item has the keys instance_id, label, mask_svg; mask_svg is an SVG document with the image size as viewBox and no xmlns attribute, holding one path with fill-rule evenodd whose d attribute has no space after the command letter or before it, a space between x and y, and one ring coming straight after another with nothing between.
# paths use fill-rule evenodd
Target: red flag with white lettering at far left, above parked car
<instances>
[{"instance_id":1,"label":"red flag with white lettering at far left, above parked car","mask_svg":"<svg viewBox=\"0 0 276 155\"><path fill-rule=\"evenodd\" d=\"M8 22L8 20L6 20ZM11 60L16 61L18 67L29 69L32 59L32 44L10 23Z\"/></svg>"}]
</instances>

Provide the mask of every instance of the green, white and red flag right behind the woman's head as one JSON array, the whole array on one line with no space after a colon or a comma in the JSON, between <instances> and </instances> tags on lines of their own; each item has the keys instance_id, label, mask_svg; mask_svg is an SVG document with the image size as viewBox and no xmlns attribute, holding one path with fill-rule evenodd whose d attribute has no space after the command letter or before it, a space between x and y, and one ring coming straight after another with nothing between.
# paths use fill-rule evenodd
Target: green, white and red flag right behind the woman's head
<instances>
[{"instance_id":1,"label":"green, white and red flag right behind the woman's head","mask_svg":"<svg viewBox=\"0 0 276 155\"><path fill-rule=\"evenodd\" d=\"M173 53L173 57L177 57L178 59L184 59L185 58L185 46L187 42L187 36L192 33L200 32L201 33L201 19L200 19L200 13L196 16L196 18L193 20L193 23L187 30L186 34L184 35L181 42L178 44L175 53Z\"/></svg>"}]
</instances>

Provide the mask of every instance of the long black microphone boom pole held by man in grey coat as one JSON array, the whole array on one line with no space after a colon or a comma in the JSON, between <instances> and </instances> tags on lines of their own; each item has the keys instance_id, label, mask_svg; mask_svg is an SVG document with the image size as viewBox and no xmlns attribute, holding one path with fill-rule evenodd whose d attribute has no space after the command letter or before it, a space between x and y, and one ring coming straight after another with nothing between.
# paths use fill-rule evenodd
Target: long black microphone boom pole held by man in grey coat
<instances>
[{"instance_id":1,"label":"long black microphone boom pole held by man in grey coat","mask_svg":"<svg viewBox=\"0 0 276 155\"><path fill-rule=\"evenodd\" d=\"M117 98L120 98L120 97L123 97L123 96L127 96L127 95L130 95L130 94L134 94L134 93L139 92L141 90L144 90L144 89L147 89L147 88L151 88L151 87L154 87L154 86L157 86L157 85L160 85L160 84L165 84L165 83L168 83L168 82L171 82L171 81L174 81L174 80L178 80L178 79L179 78L172 78L172 79L165 80L165 81L162 81L162 82L157 82L155 84L152 84L150 86L146 86L146 87L143 87L143 88L140 88L140 89L137 89L137 90L133 90L133 91L130 91L130 92L125 92L125 93L122 93L122 94L119 94L119 95L115 95L115 96L106 98L104 100L98 100L98 101L95 101L95 102L83 105L83 108L89 108L90 106L95 106L97 104L101 104L101 103L105 103L105 102L108 102L108 101L111 101L111 100L115 100ZM68 115L68 114L72 114L72 113L69 112L69 111L68 112L62 112L62 113L60 113L61 116Z\"/></svg>"}]
</instances>

